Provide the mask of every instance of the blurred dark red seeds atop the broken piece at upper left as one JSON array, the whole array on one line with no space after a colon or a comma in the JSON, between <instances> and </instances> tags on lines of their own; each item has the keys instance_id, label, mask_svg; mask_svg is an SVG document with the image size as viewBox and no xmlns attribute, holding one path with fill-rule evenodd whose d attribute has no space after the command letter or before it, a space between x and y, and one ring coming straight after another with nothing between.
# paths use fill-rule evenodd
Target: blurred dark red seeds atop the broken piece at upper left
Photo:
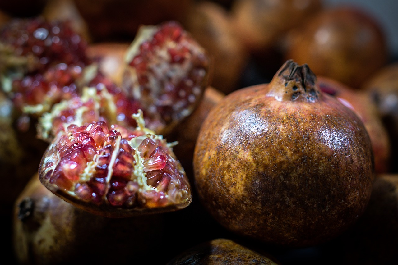
<instances>
[{"instance_id":1,"label":"blurred dark red seeds atop the broken piece at upper left","mask_svg":"<svg viewBox=\"0 0 398 265\"><path fill-rule=\"evenodd\" d=\"M15 18L0 31L0 43L14 48L16 56L35 57L35 67L41 72L60 62L84 66L87 43L68 22L46 21L43 18Z\"/></svg>"}]
</instances>

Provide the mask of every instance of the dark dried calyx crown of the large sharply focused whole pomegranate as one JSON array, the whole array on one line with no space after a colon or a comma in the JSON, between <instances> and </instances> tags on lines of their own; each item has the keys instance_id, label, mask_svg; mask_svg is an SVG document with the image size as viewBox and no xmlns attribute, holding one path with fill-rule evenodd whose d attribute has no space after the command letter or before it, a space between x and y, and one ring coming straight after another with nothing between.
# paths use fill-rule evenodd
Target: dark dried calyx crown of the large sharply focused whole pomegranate
<instances>
[{"instance_id":1,"label":"dark dried calyx crown of the large sharply focused whole pomegranate","mask_svg":"<svg viewBox=\"0 0 398 265\"><path fill-rule=\"evenodd\" d=\"M314 103L321 93L316 76L307 64L298 65L287 60L269 83L267 96L278 101L303 101Z\"/></svg>"}]
</instances>

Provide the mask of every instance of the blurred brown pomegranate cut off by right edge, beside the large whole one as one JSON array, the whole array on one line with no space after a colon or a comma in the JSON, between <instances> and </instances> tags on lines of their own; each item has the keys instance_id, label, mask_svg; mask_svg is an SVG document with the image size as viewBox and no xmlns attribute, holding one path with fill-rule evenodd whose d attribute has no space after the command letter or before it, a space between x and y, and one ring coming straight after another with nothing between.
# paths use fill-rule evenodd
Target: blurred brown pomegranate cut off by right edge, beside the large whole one
<instances>
[{"instance_id":1,"label":"blurred brown pomegranate cut off by right edge, beside the large whole one","mask_svg":"<svg viewBox=\"0 0 398 265\"><path fill-rule=\"evenodd\" d=\"M398 63L387 64L361 87L371 94L391 142L391 171L398 171Z\"/></svg>"}]
</instances>

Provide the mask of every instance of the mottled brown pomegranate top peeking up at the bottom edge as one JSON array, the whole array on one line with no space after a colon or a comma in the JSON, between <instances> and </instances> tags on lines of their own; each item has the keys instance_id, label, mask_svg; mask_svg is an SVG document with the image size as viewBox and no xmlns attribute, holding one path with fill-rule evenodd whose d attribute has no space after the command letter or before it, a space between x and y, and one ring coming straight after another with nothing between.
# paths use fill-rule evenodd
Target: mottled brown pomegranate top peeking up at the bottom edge
<instances>
[{"instance_id":1,"label":"mottled brown pomegranate top peeking up at the bottom edge","mask_svg":"<svg viewBox=\"0 0 398 265\"><path fill-rule=\"evenodd\" d=\"M174 257L167 265L172 264L264 264L277 265L272 259L256 251L242 246L233 240L217 238L191 249L183 251Z\"/></svg>"}]
</instances>

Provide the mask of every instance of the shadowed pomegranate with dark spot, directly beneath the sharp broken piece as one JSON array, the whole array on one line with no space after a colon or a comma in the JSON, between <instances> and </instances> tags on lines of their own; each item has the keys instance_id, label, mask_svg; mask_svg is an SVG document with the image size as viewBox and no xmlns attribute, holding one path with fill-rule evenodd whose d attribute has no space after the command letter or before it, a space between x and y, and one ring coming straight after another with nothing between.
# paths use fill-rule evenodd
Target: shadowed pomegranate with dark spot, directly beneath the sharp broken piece
<instances>
[{"instance_id":1,"label":"shadowed pomegranate with dark spot, directly beneath the sharp broken piece","mask_svg":"<svg viewBox=\"0 0 398 265\"><path fill-rule=\"evenodd\" d=\"M90 214L51 193L36 173L14 204L14 253L20 264L126 264L131 255L141 260L150 255L154 238L163 235L163 220L160 214Z\"/></svg>"}]
</instances>

